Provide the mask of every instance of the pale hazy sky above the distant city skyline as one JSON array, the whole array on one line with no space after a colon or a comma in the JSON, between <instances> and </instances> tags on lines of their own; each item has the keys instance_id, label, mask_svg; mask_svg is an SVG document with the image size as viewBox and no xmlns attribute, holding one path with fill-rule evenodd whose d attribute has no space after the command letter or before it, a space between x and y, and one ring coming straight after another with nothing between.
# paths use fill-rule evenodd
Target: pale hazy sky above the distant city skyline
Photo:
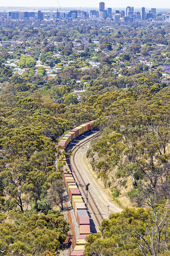
<instances>
[{"instance_id":1,"label":"pale hazy sky above the distant city skyline","mask_svg":"<svg viewBox=\"0 0 170 256\"><path fill-rule=\"evenodd\" d=\"M98 7L99 6L98 0L59 0L61 7ZM146 8L170 8L170 1L169 0L122 0L122 1L113 1L113 0L106 0L105 8L107 7L126 7L126 6L134 6L137 8L141 8L142 6ZM54 6L58 7L57 0L6 0L1 1L0 6Z\"/></svg>"}]
</instances>

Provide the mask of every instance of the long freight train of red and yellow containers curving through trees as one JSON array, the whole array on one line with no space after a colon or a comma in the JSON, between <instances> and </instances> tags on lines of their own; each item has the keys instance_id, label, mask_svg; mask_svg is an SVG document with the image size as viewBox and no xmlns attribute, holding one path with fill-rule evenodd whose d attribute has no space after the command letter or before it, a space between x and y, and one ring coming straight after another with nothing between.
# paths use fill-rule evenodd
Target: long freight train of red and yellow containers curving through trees
<instances>
[{"instance_id":1,"label":"long freight train of red and yellow containers curving through trees","mask_svg":"<svg viewBox=\"0 0 170 256\"><path fill-rule=\"evenodd\" d=\"M92 127L92 122L93 121L87 122L72 129L70 132L64 135L58 145L66 148L71 140L74 140L84 132L95 128L96 126ZM90 220L81 193L68 165L63 166L62 176L80 228L80 235L78 236L76 246L74 247L71 256L81 256L85 251L85 237L90 234Z\"/></svg>"}]
</instances>

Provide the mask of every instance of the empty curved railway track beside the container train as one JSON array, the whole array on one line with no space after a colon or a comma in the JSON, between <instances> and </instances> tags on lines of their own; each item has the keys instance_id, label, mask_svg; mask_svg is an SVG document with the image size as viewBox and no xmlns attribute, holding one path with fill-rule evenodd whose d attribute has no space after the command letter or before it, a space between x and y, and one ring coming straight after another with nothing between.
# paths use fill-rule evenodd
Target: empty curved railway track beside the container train
<instances>
[{"instance_id":1,"label":"empty curved railway track beside the container train","mask_svg":"<svg viewBox=\"0 0 170 256\"><path fill-rule=\"evenodd\" d=\"M78 167L76 166L74 158L75 158L75 154L76 154L77 150L79 149L79 147L82 147L87 142L89 142L91 139L96 138L96 137L97 137L97 135L94 134L90 138L84 140L83 142L78 143L72 149L72 153L73 153L72 156L73 156L73 163L74 163L74 165L72 165L71 162L70 162L70 166L71 166L72 172L74 173L74 176L76 177L76 179L77 179L77 181L79 183L79 186L82 189L82 192L83 192L83 195L85 196L85 198L86 198L86 190L85 190L86 183L85 183L85 180L83 179L81 173L79 172ZM69 157L69 161L70 161L70 157ZM93 214L95 216L95 219L97 220L97 223L98 223L98 225L100 227L101 221L103 220L103 216L102 216L102 214L101 214L97 204L95 203L95 200L94 200L92 194L90 193L90 191L88 191L88 205L90 206L90 208L91 208L91 210L92 210L92 212L93 212Z\"/></svg>"}]
</instances>

